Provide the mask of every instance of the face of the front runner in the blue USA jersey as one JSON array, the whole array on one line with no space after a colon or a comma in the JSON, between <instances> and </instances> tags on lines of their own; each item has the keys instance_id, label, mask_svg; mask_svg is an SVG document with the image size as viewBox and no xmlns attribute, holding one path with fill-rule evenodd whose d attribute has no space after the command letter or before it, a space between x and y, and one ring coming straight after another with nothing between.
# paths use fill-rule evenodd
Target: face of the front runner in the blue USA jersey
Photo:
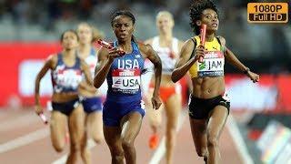
<instances>
[{"instance_id":1,"label":"face of the front runner in the blue USA jersey","mask_svg":"<svg viewBox=\"0 0 291 164\"><path fill-rule=\"evenodd\" d=\"M113 22L113 30L118 40L130 40L135 30L135 25L130 17L118 15Z\"/></svg>"}]
</instances>

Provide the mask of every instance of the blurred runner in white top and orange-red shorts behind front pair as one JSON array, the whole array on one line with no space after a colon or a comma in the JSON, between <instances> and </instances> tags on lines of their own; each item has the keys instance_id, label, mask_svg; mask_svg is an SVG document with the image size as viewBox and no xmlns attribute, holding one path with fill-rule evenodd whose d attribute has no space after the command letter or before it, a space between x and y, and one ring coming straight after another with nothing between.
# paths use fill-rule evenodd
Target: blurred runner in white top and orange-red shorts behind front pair
<instances>
[{"instance_id":1,"label":"blurred runner in white top and orange-red shorts behind front pair","mask_svg":"<svg viewBox=\"0 0 291 164\"><path fill-rule=\"evenodd\" d=\"M163 66L160 94L166 112L166 163L168 164L173 163L174 146L176 143L176 125L182 108L181 85L179 83L175 84L171 80L171 74L175 68L176 59L178 58L183 44L173 36L174 24L173 15L171 13L167 11L159 12L156 15L156 27L158 28L159 36L155 36L145 42L153 46L157 55L161 58ZM152 81L154 79L155 78L152 78ZM150 87L153 88L154 84L151 83ZM148 112L150 124L154 132L150 141L155 140L154 136L157 135L157 128L161 126L161 111L162 110ZM157 143L149 144L154 148L157 146Z\"/></svg>"}]
</instances>

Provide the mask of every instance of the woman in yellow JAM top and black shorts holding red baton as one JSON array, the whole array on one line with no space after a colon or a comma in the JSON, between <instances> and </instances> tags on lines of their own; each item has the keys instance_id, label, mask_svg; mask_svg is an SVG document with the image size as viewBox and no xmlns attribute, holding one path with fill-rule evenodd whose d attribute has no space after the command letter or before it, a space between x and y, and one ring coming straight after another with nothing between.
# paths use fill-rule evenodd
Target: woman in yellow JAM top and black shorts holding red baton
<instances>
[{"instance_id":1,"label":"woman in yellow JAM top and black shorts holding red baton","mask_svg":"<svg viewBox=\"0 0 291 164\"><path fill-rule=\"evenodd\" d=\"M192 77L192 96L189 117L196 152L206 163L221 163L218 140L229 114L224 78L225 59L244 72L253 82L259 76L244 66L226 47L226 40L216 36L219 25L216 5L212 1L194 1L190 7L191 27L197 36L182 47L172 80L176 82L189 71ZM206 25L206 43L200 45L200 26ZM204 57L201 63L200 57Z\"/></svg>"}]
</instances>

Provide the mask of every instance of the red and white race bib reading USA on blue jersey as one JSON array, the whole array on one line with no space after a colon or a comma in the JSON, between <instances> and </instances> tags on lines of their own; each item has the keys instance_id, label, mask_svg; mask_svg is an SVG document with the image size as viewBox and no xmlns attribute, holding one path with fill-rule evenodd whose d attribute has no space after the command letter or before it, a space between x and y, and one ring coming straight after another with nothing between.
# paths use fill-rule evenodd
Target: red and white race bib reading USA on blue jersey
<instances>
[{"instance_id":1,"label":"red and white race bib reading USA on blue jersey","mask_svg":"<svg viewBox=\"0 0 291 164\"><path fill-rule=\"evenodd\" d=\"M115 69L112 71L112 90L135 94L140 89L139 69Z\"/></svg>"}]
</instances>

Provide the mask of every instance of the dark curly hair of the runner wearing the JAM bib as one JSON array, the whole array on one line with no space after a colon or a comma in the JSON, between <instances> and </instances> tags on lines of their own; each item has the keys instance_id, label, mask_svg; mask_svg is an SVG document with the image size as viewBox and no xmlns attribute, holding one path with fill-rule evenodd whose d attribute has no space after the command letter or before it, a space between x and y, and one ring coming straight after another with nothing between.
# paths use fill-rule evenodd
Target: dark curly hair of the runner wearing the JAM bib
<instances>
[{"instance_id":1,"label":"dark curly hair of the runner wearing the JAM bib","mask_svg":"<svg viewBox=\"0 0 291 164\"><path fill-rule=\"evenodd\" d=\"M202 12L206 9L212 9L218 15L216 5L211 0L194 0L190 6L190 26L196 35L200 34L200 26L196 25L196 21L201 20Z\"/></svg>"}]
</instances>

